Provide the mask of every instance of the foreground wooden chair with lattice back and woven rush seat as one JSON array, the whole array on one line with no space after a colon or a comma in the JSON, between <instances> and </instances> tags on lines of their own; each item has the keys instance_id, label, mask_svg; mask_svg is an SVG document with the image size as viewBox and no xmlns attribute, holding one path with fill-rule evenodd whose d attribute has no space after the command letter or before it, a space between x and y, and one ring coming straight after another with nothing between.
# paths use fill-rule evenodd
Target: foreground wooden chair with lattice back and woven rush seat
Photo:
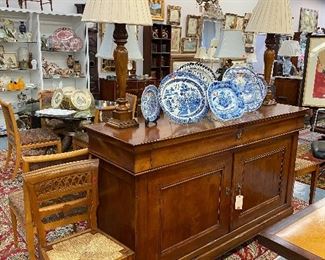
<instances>
[{"instance_id":1,"label":"foreground wooden chair with lattice back and woven rush seat","mask_svg":"<svg viewBox=\"0 0 325 260\"><path fill-rule=\"evenodd\" d=\"M84 160L24 174L25 200L44 259L134 259L130 249L97 229L98 164ZM86 230L47 241L50 230L80 222Z\"/></svg>"}]
</instances>

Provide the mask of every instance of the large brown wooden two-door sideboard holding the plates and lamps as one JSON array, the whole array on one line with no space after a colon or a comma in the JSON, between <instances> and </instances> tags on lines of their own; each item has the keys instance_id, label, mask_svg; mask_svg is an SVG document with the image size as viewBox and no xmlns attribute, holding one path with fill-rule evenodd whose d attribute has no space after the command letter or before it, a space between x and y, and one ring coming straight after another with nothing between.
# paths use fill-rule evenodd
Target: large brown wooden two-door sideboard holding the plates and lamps
<instances>
[{"instance_id":1,"label":"large brown wooden two-door sideboard holding the plates and lamps","mask_svg":"<svg viewBox=\"0 0 325 260\"><path fill-rule=\"evenodd\" d=\"M98 226L136 259L215 259L292 214L307 109L262 107L227 123L91 125L100 158ZM244 196L242 210L235 198Z\"/></svg>"}]
</instances>

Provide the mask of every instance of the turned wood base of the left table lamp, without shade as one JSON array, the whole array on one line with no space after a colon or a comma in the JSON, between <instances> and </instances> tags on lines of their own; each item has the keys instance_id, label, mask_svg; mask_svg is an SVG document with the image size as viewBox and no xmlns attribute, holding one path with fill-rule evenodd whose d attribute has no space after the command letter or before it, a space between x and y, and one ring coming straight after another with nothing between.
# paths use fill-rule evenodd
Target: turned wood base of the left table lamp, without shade
<instances>
[{"instance_id":1,"label":"turned wood base of the left table lamp, without shade","mask_svg":"<svg viewBox=\"0 0 325 260\"><path fill-rule=\"evenodd\" d=\"M105 125L115 128L130 128L139 126L137 120L132 117L128 101L125 98L128 77L128 51L125 44L128 39L126 24L115 24L113 33L116 49L114 50L114 61L116 68L116 81L119 88L119 96L116 100L117 107L113 111L113 117Z\"/></svg>"}]
</instances>

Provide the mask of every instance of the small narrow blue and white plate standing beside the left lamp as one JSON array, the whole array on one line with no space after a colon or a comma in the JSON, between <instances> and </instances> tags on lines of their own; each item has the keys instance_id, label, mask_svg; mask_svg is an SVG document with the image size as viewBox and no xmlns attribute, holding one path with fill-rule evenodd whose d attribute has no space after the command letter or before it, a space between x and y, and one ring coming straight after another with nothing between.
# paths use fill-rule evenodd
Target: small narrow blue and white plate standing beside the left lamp
<instances>
[{"instance_id":1,"label":"small narrow blue and white plate standing beside the left lamp","mask_svg":"<svg viewBox=\"0 0 325 260\"><path fill-rule=\"evenodd\" d=\"M159 93L155 85L149 85L144 89L141 96L141 111L148 122L155 122L159 117Z\"/></svg>"}]
</instances>

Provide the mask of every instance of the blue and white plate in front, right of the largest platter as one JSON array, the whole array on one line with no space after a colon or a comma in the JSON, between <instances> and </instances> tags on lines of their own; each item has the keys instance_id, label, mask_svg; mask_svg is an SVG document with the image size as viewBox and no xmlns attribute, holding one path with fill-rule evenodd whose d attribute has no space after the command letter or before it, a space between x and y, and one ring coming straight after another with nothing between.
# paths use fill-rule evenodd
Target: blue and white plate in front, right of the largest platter
<instances>
[{"instance_id":1,"label":"blue and white plate in front, right of the largest platter","mask_svg":"<svg viewBox=\"0 0 325 260\"><path fill-rule=\"evenodd\" d=\"M207 92L212 113L221 121L237 119L245 113L244 97L231 81L216 81Z\"/></svg>"}]
</instances>

